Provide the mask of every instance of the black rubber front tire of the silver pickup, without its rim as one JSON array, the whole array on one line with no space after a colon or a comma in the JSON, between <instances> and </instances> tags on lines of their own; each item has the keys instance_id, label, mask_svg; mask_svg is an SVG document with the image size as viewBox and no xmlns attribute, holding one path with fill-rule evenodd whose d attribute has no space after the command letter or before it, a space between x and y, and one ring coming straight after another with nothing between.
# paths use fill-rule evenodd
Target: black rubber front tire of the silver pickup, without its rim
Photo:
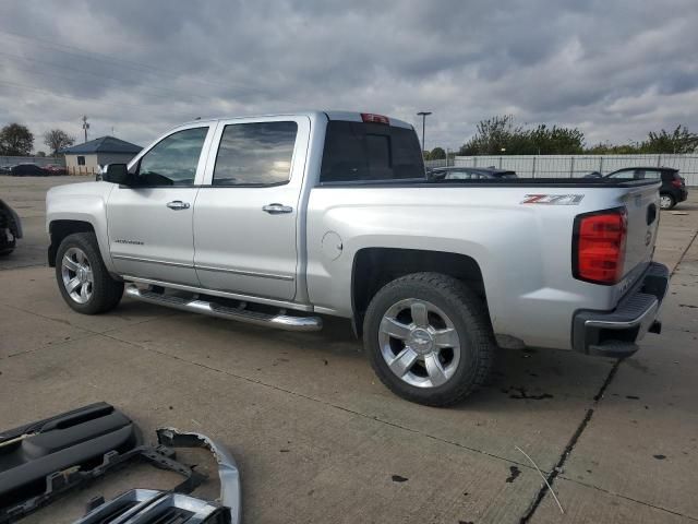
<instances>
[{"instance_id":1,"label":"black rubber front tire of the silver pickup, without its rim","mask_svg":"<svg viewBox=\"0 0 698 524\"><path fill-rule=\"evenodd\" d=\"M73 300L65 289L62 276L62 260L71 248L82 250L92 267L92 296L85 303ZM75 311L83 314L98 314L116 308L123 296L123 282L116 281L109 275L94 233L74 233L63 239L56 252L56 279L63 300Z\"/></svg>"}]
</instances>

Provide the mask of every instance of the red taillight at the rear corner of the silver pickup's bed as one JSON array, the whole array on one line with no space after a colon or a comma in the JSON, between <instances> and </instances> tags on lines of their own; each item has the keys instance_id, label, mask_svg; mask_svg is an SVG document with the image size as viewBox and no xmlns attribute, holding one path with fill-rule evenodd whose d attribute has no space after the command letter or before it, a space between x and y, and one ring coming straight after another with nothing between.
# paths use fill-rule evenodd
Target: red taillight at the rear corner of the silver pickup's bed
<instances>
[{"instance_id":1,"label":"red taillight at the rear corner of the silver pickup's bed","mask_svg":"<svg viewBox=\"0 0 698 524\"><path fill-rule=\"evenodd\" d=\"M573 237L573 275L612 285L623 277L628 215L625 207L578 215Z\"/></svg>"}]
</instances>

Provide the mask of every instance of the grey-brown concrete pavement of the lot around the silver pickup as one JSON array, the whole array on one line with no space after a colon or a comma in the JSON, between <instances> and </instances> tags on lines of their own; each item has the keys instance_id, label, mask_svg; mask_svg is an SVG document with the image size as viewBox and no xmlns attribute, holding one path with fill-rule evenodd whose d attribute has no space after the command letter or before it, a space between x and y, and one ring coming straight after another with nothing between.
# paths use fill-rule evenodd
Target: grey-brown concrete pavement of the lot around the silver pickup
<instances>
[{"instance_id":1,"label":"grey-brown concrete pavement of the lot around the silver pickup","mask_svg":"<svg viewBox=\"0 0 698 524\"><path fill-rule=\"evenodd\" d=\"M26 233L0 260L0 428L104 400L146 436L206 432L241 464L245 522L698 520L695 196L675 210L687 214L662 212L655 258L675 273L661 336L619 365L502 352L490 386L435 409L385 390L344 321L289 334L128 299L74 313L44 266L45 191L68 181L0 177ZM123 472L26 522L72 522L93 493L176 481Z\"/></svg>"}]
</instances>

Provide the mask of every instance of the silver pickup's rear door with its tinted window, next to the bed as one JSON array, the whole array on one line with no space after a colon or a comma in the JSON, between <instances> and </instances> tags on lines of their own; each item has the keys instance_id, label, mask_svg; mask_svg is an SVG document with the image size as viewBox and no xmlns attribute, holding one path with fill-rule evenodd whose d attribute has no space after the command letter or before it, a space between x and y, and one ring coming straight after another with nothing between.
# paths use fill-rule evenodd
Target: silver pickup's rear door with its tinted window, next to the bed
<instances>
[{"instance_id":1,"label":"silver pickup's rear door with its tinted window, next to the bed","mask_svg":"<svg viewBox=\"0 0 698 524\"><path fill-rule=\"evenodd\" d=\"M220 121L194 209L203 287L291 300L308 117Z\"/></svg>"}]
</instances>

